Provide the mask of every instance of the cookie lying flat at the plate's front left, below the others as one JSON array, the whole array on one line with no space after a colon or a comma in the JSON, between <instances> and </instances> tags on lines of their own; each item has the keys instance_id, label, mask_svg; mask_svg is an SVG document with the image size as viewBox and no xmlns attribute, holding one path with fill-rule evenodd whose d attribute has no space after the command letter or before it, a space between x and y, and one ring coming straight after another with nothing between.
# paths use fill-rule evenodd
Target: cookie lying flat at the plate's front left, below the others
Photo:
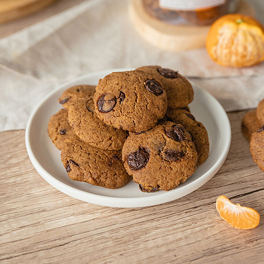
<instances>
[{"instance_id":1,"label":"cookie lying flat at the plate's front left, below the others","mask_svg":"<svg viewBox=\"0 0 264 264\"><path fill-rule=\"evenodd\" d=\"M115 189L131 179L121 155L121 151L102 150L78 138L68 138L61 150L61 161L72 180Z\"/></svg>"}]
</instances>

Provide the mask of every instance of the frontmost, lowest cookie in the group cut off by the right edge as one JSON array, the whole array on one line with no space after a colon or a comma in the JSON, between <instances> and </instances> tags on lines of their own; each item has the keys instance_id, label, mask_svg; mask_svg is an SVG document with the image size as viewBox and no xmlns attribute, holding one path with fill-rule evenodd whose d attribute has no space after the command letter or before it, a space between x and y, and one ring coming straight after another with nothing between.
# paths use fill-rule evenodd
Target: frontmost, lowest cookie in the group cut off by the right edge
<instances>
[{"instance_id":1,"label":"frontmost, lowest cookie in the group cut off by the right edge","mask_svg":"<svg viewBox=\"0 0 264 264\"><path fill-rule=\"evenodd\" d=\"M251 135L250 153L254 162L264 172L264 125Z\"/></svg>"}]
</instances>

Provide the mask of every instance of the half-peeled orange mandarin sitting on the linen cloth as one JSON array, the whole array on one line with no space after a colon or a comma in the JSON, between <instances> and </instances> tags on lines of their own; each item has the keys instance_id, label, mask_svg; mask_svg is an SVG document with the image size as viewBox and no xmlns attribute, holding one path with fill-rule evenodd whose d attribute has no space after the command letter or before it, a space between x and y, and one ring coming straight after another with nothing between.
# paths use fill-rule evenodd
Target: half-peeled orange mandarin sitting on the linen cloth
<instances>
[{"instance_id":1,"label":"half-peeled orange mandarin sitting on the linen cloth","mask_svg":"<svg viewBox=\"0 0 264 264\"><path fill-rule=\"evenodd\" d=\"M222 66L258 64L264 60L264 27L250 16L224 15L210 27L206 49L209 56Z\"/></svg>"}]
</instances>

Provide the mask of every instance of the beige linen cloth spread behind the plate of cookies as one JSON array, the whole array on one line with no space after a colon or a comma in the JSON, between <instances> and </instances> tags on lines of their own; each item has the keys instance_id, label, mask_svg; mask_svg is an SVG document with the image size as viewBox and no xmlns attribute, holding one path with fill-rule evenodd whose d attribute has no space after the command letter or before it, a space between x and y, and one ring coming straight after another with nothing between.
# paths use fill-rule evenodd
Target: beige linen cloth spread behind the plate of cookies
<instances>
[{"instance_id":1,"label":"beige linen cloth spread behind the plate of cookies","mask_svg":"<svg viewBox=\"0 0 264 264\"><path fill-rule=\"evenodd\" d=\"M226 111L264 97L264 64L233 69L206 50L167 52L145 42L129 19L129 0L90 0L0 39L0 130L24 129L35 106L58 85L90 72L161 65L179 70Z\"/></svg>"}]
</instances>

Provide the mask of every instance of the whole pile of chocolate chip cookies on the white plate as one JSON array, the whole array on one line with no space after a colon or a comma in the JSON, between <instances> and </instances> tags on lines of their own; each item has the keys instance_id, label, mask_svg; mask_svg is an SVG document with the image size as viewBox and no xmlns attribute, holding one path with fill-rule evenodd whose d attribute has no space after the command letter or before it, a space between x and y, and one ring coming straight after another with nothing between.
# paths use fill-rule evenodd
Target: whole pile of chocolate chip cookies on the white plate
<instances>
[{"instance_id":1,"label":"whole pile of chocolate chip cookies on the white plate","mask_svg":"<svg viewBox=\"0 0 264 264\"><path fill-rule=\"evenodd\" d=\"M48 134L72 180L142 192L170 190L208 157L208 134L190 113L191 84L160 66L113 72L58 99Z\"/></svg>"}]
</instances>

